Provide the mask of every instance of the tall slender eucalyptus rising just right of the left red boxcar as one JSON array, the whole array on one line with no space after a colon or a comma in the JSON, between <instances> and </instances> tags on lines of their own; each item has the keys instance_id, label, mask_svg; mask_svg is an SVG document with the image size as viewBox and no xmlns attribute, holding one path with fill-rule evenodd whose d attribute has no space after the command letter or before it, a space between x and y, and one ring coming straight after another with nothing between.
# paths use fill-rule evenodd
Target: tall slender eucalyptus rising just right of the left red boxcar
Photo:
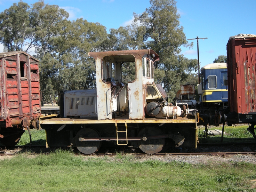
<instances>
[{"instance_id":1,"label":"tall slender eucalyptus rising just right of the left red boxcar","mask_svg":"<svg viewBox=\"0 0 256 192\"><path fill-rule=\"evenodd\" d=\"M36 41L36 57L40 59L40 88L43 99L52 101L58 95L60 81L60 61L56 58L53 48L53 39L59 36L67 23L68 12L58 5L45 4L40 0L32 5L30 24L34 27Z\"/></svg>"}]
</instances>

